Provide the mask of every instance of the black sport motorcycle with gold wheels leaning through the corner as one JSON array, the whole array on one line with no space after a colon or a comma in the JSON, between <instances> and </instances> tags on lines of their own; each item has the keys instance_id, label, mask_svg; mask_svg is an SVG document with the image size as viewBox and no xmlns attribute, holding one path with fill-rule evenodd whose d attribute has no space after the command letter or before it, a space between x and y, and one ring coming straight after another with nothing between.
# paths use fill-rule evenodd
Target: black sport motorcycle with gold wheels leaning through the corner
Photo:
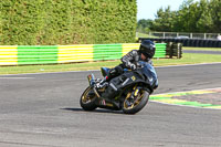
<instances>
[{"instance_id":1,"label":"black sport motorcycle with gold wheels leaning through the corner","mask_svg":"<svg viewBox=\"0 0 221 147\"><path fill-rule=\"evenodd\" d=\"M124 114L136 114L141 111L154 92L150 82L152 77L147 72L146 63L139 63L134 71L124 69L123 74L112 78L108 85L96 90L98 78L94 74L87 76L90 86L83 92L80 104L84 111L94 111L97 107L123 111ZM108 73L107 67L102 67L102 75Z\"/></svg>"}]
</instances>

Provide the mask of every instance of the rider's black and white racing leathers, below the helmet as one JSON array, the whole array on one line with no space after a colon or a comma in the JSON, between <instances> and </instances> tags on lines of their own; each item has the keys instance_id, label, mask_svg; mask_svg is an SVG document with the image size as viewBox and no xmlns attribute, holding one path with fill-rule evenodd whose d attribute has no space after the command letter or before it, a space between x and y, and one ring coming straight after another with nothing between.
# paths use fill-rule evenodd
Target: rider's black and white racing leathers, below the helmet
<instances>
[{"instance_id":1,"label":"rider's black and white racing leathers, below the helmet","mask_svg":"<svg viewBox=\"0 0 221 147\"><path fill-rule=\"evenodd\" d=\"M148 71L147 74L150 74L152 80L150 81L150 84L154 88L158 87L158 78L157 73L152 66L152 62L150 59L146 59L145 61L141 60L141 53L138 50L133 50L128 52L126 55L124 55L122 59L122 64L115 66L114 69L110 69L107 76L105 76L104 80L102 80L96 86L97 88L104 87L107 85L108 81L110 81L113 77L116 77L120 75L124 72L124 69L130 69L136 70L139 66L139 62L145 62Z\"/></svg>"}]
</instances>

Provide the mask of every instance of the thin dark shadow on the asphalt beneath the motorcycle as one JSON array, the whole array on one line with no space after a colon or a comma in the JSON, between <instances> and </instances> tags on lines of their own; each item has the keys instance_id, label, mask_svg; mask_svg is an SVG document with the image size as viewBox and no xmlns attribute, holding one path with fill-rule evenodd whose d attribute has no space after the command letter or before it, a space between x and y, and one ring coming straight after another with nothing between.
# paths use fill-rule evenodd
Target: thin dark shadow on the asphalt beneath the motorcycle
<instances>
[{"instance_id":1,"label":"thin dark shadow on the asphalt beneath the motorcycle","mask_svg":"<svg viewBox=\"0 0 221 147\"><path fill-rule=\"evenodd\" d=\"M74 107L65 107L65 108L61 108L61 109L63 109L63 111L71 111L71 112L85 112L85 113L124 114L122 111L109 111L109 109L84 111L83 108L74 108Z\"/></svg>"}]
</instances>

